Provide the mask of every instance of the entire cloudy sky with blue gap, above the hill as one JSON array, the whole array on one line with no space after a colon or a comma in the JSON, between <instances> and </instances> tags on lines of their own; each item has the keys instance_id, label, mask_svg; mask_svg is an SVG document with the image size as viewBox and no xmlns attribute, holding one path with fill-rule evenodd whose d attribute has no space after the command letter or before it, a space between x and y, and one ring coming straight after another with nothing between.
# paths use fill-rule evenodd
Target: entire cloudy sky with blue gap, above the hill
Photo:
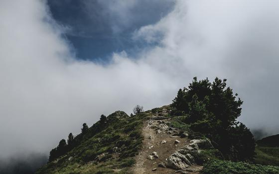
<instances>
[{"instance_id":1,"label":"entire cloudy sky with blue gap, above the hill","mask_svg":"<svg viewBox=\"0 0 279 174\"><path fill-rule=\"evenodd\" d=\"M277 0L1 0L0 159L48 154L82 124L227 79L239 121L279 133Z\"/></svg>"}]
</instances>

